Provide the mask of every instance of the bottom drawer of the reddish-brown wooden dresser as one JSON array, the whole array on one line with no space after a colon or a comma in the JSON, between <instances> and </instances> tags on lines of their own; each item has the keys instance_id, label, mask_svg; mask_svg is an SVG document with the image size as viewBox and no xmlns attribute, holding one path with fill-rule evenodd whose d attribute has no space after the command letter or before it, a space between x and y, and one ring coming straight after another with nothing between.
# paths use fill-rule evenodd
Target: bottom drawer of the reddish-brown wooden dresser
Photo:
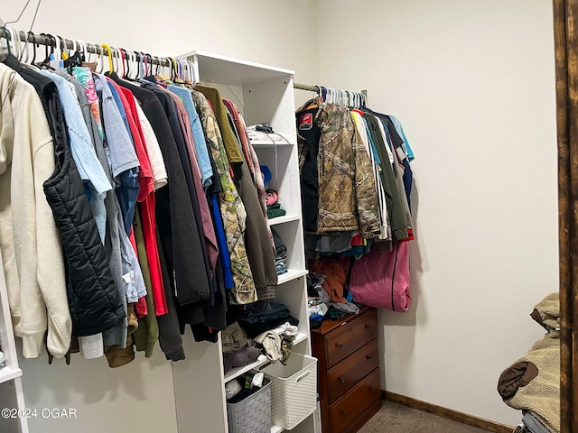
<instances>
[{"instance_id":1,"label":"bottom drawer of the reddish-brown wooden dresser","mask_svg":"<svg viewBox=\"0 0 578 433\"><path fill-rule=\"evenodd\" d=\"M343 398L330 406L331 431L339 433L356 419L368 406L381 398L379 369L369 373Z\"/></svg>"}]
</instances>

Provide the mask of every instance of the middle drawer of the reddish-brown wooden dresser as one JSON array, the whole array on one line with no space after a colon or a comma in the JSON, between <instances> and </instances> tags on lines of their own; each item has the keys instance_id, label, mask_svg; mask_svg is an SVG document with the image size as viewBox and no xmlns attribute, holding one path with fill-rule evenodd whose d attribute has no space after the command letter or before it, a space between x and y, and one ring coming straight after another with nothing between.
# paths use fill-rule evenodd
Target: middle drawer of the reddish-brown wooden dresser
<instances>
[{"instance_id":1,"label":"middle drawer of the reddish-brown wooden dresser","mask_svg":"<svg viewBox=\"0 0 578 433\"><path fill-rule=\"evenodd\" d=\"M353 385L378 366L378 339L361 347L327 372L328 404L333 403Z\"/></svg>"}]
</instances>

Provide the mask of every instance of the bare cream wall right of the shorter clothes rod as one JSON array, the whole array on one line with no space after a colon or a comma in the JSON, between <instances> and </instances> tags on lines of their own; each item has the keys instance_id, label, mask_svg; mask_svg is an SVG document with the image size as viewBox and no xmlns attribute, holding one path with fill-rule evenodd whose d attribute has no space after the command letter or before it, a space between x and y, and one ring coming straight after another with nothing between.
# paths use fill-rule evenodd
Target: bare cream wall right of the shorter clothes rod
<instances>
[{"instance_id":1,"label":"bare cream wall right of the shorter clothes rod","mask_svg":"<svg viewBox=\"0 0 578 433\"><path fill-rule=\"evenodd\" d=\"M414 303L380 314L382 384L510 425L499 374L558 283L551 3L319 1L322 83L367 88L416 155Z\"/></svg>"}]
</instances>

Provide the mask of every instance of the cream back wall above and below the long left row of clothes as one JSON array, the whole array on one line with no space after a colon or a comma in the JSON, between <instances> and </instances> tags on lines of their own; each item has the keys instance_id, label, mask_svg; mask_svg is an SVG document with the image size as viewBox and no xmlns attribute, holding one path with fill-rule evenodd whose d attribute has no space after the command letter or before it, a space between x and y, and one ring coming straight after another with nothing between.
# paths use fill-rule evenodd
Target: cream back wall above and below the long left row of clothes
<instances>
[{"instance_id":1,"label":"cream back wall above and below the long left row of clothes","mask_svg":"<svg viewBox=\"0 0 578 433\"><path fill-rule=\"evenodd\" d=\"M0 0L0 16L5 22L14 20L25 3ZM27 31L35 5L33 0L20 22L9 25ZM33 31L157 56L216 52L294 69L296 79L316 82L319 62L313 13L310 0L43 0ZM189 355L180 369L195 367ZM153 358L137 354L135 362L118 369L108 368L104 358L85 361L79 355L70 365L61 360L49 366L42 356L21 359L21 366L29 408L74 408L78 414L77 419L31 419L31 433L177 431L172 367L158 345ZM203 390L191 383L191 392Z\"/></svg>"}]
</instances>

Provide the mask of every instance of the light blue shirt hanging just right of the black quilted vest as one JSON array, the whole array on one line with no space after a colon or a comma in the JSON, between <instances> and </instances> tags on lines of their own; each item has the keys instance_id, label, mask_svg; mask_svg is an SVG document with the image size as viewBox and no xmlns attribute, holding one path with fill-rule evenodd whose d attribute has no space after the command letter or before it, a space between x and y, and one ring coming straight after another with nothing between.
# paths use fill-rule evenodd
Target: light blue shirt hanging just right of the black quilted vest
<instances>
[{"instance_id":1,"label":"light blue shirt hanging just right of the black quilted vest","mask_svg":"<svg viewBox=\"0 0 578 433\"><path fill-rule=\"evenodd\" d=\"M110 185L107 174L98 161L89 128L84 121L79 101L70 89L70 83L65 78L51 74L47 70L41 69L39 72L50 78L58 89L64 122L69 132L70 152L79 170L80 179L90 183L90 190L88 191L90 207L97 223L100 241L104 244L107 233L105 196L107 191L112 189L112 185Z\"/></svg>"}]
</instances>

